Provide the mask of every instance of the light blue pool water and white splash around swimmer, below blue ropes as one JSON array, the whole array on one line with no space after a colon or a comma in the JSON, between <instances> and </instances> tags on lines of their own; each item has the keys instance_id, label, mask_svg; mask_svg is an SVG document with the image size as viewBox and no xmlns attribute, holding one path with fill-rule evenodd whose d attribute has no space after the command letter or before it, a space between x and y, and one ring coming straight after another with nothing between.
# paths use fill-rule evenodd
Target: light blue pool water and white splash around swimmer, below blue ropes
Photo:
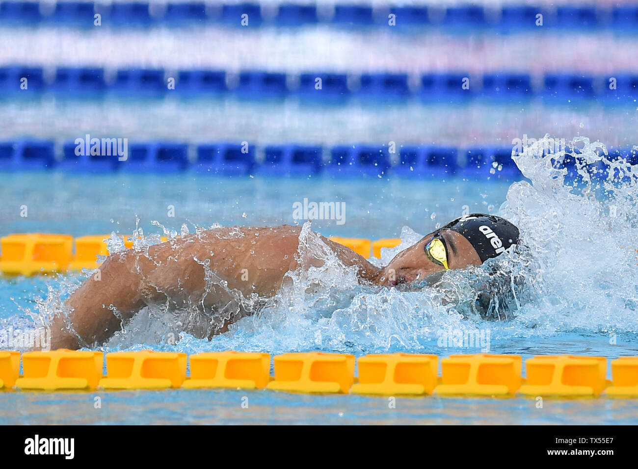
<instances>
[{"instance_id":1,"label":"light blue pool water and white splash around swimmer, below blue ropes","mask_svg":"<svg viewBox=\"0 0 638 469\"><path fill-rule=\"evenodd\" d=\"M438 290L403 292L359 287L350 272L327 266L312 278L293 275L293 286L280 292L277 304L211 341L179 336L176 330L177 344L167 343L170 313L144 309L100 350L638 355L638 261L629 241L635 188L608 188L597 199L595 190L583 195L582 188L555 179L542 159L526 155L518 163L530 181L4 174L0 220L4 233L129 234L137 227L149 235L162 234L161 227L179 233L182 225L193 232L195 225L214 223L295 223L292 204L307 197L346 203L343 225L313 221L313 229L322 234L400 235L410 244L417 233L433 230L464 209L500 212L519 224L535 262L533 270L522 271L528 284L507 320L464 317L462 301L442 306L441 298L450 298L450 292L471 293L470 280L480 278L481 269L471 275L448 272ZM20 205L27 205L27 218L20 218ZM175 207L174 218L167 216L168 205ZM610 207L616 207L614 217ZM392 254L384 251L383 262ZM611 265L609 258L616 262ZM81 279L82 274L0 279L0 325L28 327ZM323 289L309 288L313 282ZM480 346L441 345L438 339L449 329L478 330L488 339ZM101 409L93 406L95 396L101 398ZM248 408L241 407L244 396ZM269 391L8 392L0 399L3 423L638 423L636 399L546 399L542 409L524 398L433 397L401 398L391 409L386 398Z\"/></svg>"}]
</instances>

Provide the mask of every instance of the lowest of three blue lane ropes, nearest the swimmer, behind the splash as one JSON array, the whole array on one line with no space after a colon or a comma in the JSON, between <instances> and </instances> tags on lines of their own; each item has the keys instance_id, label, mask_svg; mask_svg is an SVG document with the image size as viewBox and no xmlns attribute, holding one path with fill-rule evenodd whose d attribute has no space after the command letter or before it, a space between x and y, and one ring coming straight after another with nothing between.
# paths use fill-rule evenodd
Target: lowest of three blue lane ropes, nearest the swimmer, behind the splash
<instances>
[{"instance_id":1,"label":"lowest of three blue lane ropes, nearest the swimmer, behind the splash","mask_svg":"<svg viewBox=\"0 0 638 469\"><path fill-rule=\"evenodd\" d=\"M95 143L95 142L94 142ZM107 146L105 146L107 145ZM70 172L182 172L193 170L219 175L329 174L345 177L383 177L389 173L405 177L452 177L475 179L520 179L521 172L512 160L512 147L473 147L457 149L433 145L406 145L392 158L386 145L255 145L210 143L188 145L182 142L133 142L126 145L126 160L120 161L115 148L100 140L99 154L84 151L84 141L66 142L61 151L50 140L17 140L0 143L0 170L51 169ZM89 145L90 147L90 145ZM78 154L79 153L79 154ZM93 152L95 153L95 152ZM124 152L121 152L124 154ZM624 158L638 164L638 155L630 147L612 149L610 159ZM574 156L565 158L575 167ZM123 157L122 157L123 159ZM573 168L572 168L573 170Z\"/></svg>"}]
</instances>

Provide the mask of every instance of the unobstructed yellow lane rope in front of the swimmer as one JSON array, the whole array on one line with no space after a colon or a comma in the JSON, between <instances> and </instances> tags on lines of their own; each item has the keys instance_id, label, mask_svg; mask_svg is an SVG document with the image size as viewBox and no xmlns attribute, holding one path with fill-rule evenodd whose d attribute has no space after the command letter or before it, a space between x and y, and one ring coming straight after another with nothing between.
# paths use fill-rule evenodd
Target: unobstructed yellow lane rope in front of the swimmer
<instances>
[{"instance_id":1,"label":"unobstructed yellow lane rope in front of the swimmer","mask_svg":"<svg viewBox=\"0 0 638 469\"><path fill-rule=\"evenodd\" d=\"M186 362L190 360L190 376ZM605 379L607 359L574 355L436 355L346 354L308 352L274 357L252 352L26 352L24 376L20 354L0 352L0 390L36 391L94 389L226 388L371 396L544 396L638 397L638 357L611 362L612 381Z\"/></svg>"}]
</instances>

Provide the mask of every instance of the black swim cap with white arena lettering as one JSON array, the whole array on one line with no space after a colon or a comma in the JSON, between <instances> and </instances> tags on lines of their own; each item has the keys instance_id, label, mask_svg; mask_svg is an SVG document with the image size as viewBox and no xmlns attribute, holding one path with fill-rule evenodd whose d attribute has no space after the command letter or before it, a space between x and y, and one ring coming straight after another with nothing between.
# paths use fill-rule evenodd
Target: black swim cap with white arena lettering
<instances>
[{"instance_id":1,"label":"black swim cap with white arena lettering","mask_svg":"<svg viewBox=\"0 0 638 469\"><path fill-rule=\"evenodd\" d=\"M457 218L441 230L452 230L462 234L479 253L481 262L498 256L519 241L519 230L512 223L500 216L482 213Z\"/></svg>"}]
</instances>

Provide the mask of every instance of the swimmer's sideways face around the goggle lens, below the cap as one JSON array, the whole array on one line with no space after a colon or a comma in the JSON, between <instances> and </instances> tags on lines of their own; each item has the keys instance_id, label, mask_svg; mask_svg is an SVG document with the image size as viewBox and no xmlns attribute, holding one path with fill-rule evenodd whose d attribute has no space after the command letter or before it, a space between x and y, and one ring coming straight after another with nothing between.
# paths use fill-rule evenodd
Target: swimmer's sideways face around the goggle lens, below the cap
<instances>
[{"instance_id":1,"label":"swimmer's sideways face around the goggle lens, below the cap","mask_svg":"<svg viewBox=\"0 0 638 469\"><path fill-rule=\"evenodd\" d=\"M435 234L439 234L447 248L447 264L450 269L463 269L468 265L480 265L481 260L470 241L456 231L440 230L431 233L408 249L398 253L383 269L381 285L396 286L401 283L422 281L427 276L445 270L427 256L426 246Z\"/></svg>"}]
</instances>

